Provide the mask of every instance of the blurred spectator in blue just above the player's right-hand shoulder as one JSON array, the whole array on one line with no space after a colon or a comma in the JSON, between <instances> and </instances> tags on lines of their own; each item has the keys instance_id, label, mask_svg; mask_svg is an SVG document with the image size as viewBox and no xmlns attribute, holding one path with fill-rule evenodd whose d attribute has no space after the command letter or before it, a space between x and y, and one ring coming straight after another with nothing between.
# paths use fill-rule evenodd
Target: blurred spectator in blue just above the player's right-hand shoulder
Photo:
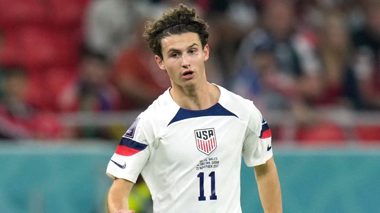
<instances>
[{"instance_id":1,"label":"blurred spectator in blue just above the player's right-hand shoulder","mask_svg":"<svg viewBox=\"0 0 380 213\"><path fill-rule=\"evenodd\" d=\"M256 46L249 54L232 87L244 98L252 100L259 108L267 110L288 107L288 99L292 95L293 80L280 76L274 54L274 44L267 40ZM282 78L280 84L272 84L271 79Z\"/></svg>"}]
</instances>

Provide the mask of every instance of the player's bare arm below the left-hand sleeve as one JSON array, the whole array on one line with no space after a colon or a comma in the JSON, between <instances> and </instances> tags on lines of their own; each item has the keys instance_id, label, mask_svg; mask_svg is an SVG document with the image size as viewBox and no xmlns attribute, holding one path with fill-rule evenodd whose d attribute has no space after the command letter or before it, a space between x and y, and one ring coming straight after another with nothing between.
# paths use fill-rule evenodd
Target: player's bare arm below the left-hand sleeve
<instances>
[{"instance_id":1,"label":"player's bare arm below the left-hand sleeve","mask_svg":"<svg viewBox=\"0 0 380 213\"><path fill-rule=\"evenodd\" d=\"M128 198L133 185L129 180L114 179L107 197L108 213L134 213L128 210Z\"/></svg>"}]
</instances>

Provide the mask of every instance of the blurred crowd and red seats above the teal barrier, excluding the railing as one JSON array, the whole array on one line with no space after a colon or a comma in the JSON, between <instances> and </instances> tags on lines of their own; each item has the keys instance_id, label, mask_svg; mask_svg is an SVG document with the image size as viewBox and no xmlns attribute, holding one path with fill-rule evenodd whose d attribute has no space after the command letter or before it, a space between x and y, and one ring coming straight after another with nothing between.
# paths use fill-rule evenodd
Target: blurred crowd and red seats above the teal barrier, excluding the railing
<instances>
[{"instance_id":1,"label":"blurred crowd and red seats above the teal barrier, excluding the railing","mask_svg":"<svg viewBox=\"0 0 380 213\"><path fill-rule=\"evenodd\" d=\"M379 111L380 0L0 0L0 138L119 138L57 115L144 109L163 93L143 24L179 3L209 24L208 80L264 115L291 113L296 140L346 140L311 112ZM380 141L380 123L360 128Z\"/></svg>"}]
</instances>

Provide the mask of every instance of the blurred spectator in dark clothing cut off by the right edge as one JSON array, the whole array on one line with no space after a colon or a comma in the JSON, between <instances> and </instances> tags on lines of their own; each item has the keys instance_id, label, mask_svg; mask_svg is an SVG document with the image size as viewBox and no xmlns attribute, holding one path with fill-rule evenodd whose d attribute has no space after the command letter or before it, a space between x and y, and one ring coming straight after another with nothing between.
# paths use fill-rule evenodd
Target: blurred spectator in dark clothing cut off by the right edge
<instances>
[{"instance_id":1,"label":"blurred spectator in dark clothing cut off by the right edge","mask_svg":"<svg viewBox=\"0 0 380 213\"><path fill-rule=\"evenodd\" d=\"M380 109L380 1L365 0L365 23L352 35L355 73L364 109Z\"/></svg>"}]
</instances>

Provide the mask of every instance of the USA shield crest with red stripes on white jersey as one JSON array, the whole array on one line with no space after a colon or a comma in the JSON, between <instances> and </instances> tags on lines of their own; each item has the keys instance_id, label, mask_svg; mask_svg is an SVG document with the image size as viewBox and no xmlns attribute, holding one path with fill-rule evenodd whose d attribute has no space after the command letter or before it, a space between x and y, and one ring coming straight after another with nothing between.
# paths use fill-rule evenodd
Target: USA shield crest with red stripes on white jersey
<instances>
[{"instance_id":1,"label":"USA shield crest with red stripes on white jersey","mask_svg":"<svg viewBox=\"0 0 380 213\"><path fill-rule=\"evenodd\" d=\"M209 155L216 148L214 128L195 130L195 142L199 151Z\"/></svg>"}]
</instances>

